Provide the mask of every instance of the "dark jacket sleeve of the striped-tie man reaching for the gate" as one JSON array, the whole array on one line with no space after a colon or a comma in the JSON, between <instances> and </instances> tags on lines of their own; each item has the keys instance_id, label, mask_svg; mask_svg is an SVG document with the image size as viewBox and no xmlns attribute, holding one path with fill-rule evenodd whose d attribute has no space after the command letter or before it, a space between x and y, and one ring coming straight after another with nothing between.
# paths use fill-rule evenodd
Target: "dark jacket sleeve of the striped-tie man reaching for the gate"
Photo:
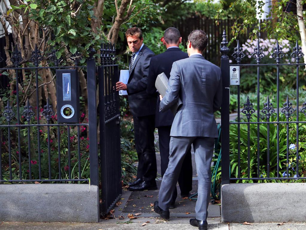
<instances>
[{"instance_id":1,"label":"dark jacket sleeve of the striped-tie man reaching for the gate","mask_svg":"<svg viewBox=\"0 0 306 230\"><path fill-rule=\"evenodd\" d=\"M148 75L149 75L149 65L150 65L150 60L153 56L154 56L154 53L149 53L146 56L144 56L144 60L143 60L142 65L141 65L141 70L142 70L142 74L143 74L142 79L140 79L136 82L126 84L127 91L128 91L129 95L136 94L136 93L139 93L139 92L147 89L147 81L148 81Z\"/></svg>"}]
</instances>

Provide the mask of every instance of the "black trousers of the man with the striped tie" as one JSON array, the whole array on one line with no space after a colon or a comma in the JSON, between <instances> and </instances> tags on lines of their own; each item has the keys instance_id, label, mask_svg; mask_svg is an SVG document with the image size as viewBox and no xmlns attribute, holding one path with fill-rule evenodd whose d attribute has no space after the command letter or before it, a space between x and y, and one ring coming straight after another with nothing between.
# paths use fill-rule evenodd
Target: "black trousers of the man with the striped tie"
<instances>
[{"instance_id":1,"label":"black trousers of the man with the striped tie","mask_svg":"<svg viewBox=\"0 0 306 230\"><path fill-rule=\"evenodd\" d=\"M157 174L154 145L155 115L133 117L135 145L138 156L137 178L155 181Z\"/></svg>"}]
</instances>

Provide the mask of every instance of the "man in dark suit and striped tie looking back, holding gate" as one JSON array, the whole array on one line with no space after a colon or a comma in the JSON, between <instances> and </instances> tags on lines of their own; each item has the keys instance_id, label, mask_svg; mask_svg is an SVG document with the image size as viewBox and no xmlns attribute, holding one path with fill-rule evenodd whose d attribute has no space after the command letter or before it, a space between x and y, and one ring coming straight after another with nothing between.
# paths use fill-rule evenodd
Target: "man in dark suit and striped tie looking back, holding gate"
<instances>
[{"instance_id":1,"label":"man in dark suit and striped tie looking back, holding gate","mask_svg":"<svg viewBox=\"0 0 306 230\"><path fill-rule=\"evenodd\" d=\"M116 83L116 90L127 90L130 111L134 120L135 145L138 156L137 178L129 190L155 190L157 173L154 130L156 97L147 94L149 64L154 53L144 45L142 32L133 27L125 33L132 57L127 84Z\"/></svg>"}]
</instances>

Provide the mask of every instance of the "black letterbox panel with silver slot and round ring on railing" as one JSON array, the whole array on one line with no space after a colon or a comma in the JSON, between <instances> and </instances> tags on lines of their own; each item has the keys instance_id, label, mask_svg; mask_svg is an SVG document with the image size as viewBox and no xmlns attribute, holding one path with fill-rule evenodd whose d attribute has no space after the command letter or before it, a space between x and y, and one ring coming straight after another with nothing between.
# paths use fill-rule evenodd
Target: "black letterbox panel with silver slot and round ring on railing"
<instances>
[{"instance_id":1,"label":"black letterbox panel with silver slot and round ring on railing","mask_svg":"<svg viewBox=\"0 0 306 230\"><path fill-rule=\"evenodd\" d=\"M76 69L56 70L58 123L79 123L79 76Z\"/></svg>"}]
</instances>

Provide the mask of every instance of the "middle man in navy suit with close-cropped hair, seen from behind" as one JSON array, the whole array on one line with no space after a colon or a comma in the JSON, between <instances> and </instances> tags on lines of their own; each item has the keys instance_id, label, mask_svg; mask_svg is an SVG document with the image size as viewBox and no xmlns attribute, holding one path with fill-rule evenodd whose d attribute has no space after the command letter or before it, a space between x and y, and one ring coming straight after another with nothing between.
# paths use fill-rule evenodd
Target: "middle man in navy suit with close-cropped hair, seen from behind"
<instances>
[{"instance_id":1,"label":"middle man in navy suit with close-cropped hair, seen from behind","mask_svg":"<svg viewBox=\"0 0 306 230\"><path fill-rule=\"evenodd\" d=\"M169 143L170 143L170 130L174 119L173 113L168 110L166 112L159 111L159 94L156 93L155 81L157 75L164 72L166 76L170 77L170 71L172 64L180 59L188 58L188 54L182 52L178 48L182 41L182 37L178 29L170 27L165 30L162 37L162 43L166 46L167 50L155 57L151 58L149 67L149 77L147 84L147 93L151 95L157 95L157 106L155 113L155 127L158 128L159 136L159 151L161 158L161 173L162 177L166 172L169 162ZM190 150L185 156L183 161L182 170L178 178L178 183L181 189L181 196L186 197L189 195L189 191L192 190L192 161ZM174 203L177 197L177 189L175 187L170 208L174 207Z\"/></svg>"}]
</instances>

